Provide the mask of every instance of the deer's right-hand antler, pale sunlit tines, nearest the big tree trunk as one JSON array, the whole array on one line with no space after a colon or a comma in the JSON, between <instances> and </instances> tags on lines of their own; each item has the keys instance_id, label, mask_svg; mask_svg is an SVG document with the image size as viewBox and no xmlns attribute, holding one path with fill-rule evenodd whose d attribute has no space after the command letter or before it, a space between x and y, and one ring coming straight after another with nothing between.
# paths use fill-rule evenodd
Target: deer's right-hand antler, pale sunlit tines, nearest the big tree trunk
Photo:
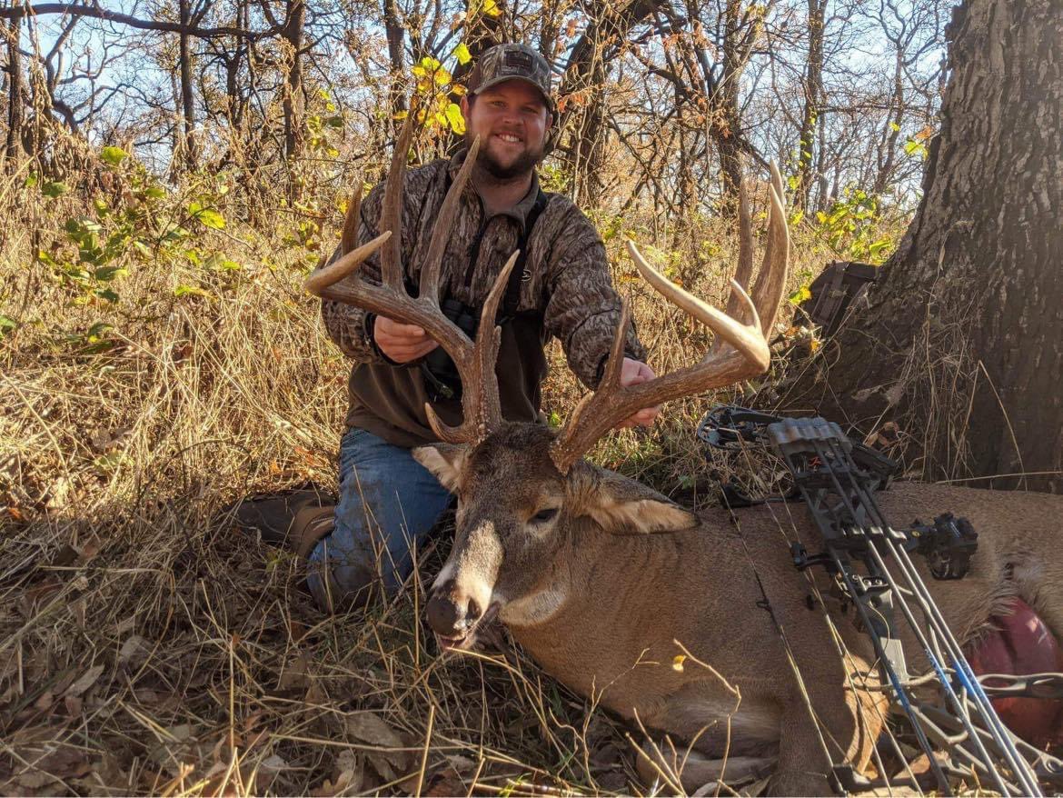
<instances>
[{"instance_id":1,"label":"deer's right-hand antler, pale sunlit tines, nearest the big tree trunk","mask_svg":"<svg viewBox=\"0 0 1063 798\"><path fill-rule=\"evenodd\" d=\"M561 473L567 473L572 464L589 451L602 435L643 408L730 385L767 369L771 352L765 336L775 322L775 314L782 298L790 250L790 234L782 203L782 177L774 164L769 194L772 204L767 220L767 245L763 266L753 288L754 299L749 299L744 287L732 280L728 302L731 315L703 302L662 277L645 262L634 243L627 243L627 249L642 277L665 299L712 330L722 344L714 344L705 360L694 366L638 385L622 386L620 369L624 360L625 334L630 321L630 311L625 301L602 382L597 390L579 401L551 450L554 465ZM739 197L740 217L748 219L745 192L741 192ZM740 242L741 270L742 265L753 262L752 236L741 235ZM748 273L745 279L748 279ZM743 311L748 323L733 317L742 318L740 314Z\"/></svg>"}]
</instances>

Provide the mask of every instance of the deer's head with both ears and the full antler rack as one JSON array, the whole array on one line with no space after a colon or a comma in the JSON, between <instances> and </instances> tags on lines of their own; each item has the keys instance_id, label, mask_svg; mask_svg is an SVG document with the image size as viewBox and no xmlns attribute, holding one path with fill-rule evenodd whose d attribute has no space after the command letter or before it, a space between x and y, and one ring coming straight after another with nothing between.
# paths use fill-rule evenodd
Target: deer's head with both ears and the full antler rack
<instances>
[{"instance_id":1,"label":"deer's head with both ears and the full antler rack","mask_svg":"<svg viewBox=\"0 0 1063 798\"><path fill-rule=\"evenodd\" d=\"M458 497L454 546L432 588L427 619L444 648L466 648L477 626L501 614L503 620L527 615L529 608L549 604L551 570L563 562L564 550L586 535L646 534L687 529L694 516L634 480L596 468L583 460L594 443L635 412L671 399L722 387L764 371L770 352L765 335L772 328L786 281L789 233L782 205L782 181L772 167L767 245L763 266L752 292L732 281L730 315L691 296L659 275L628 242L639 271L669 301L709 327L716 335L699 363L632 386L620 384L626 302L597 389L576 406L564 428L555 431L535 423L502 419L494 375L500 329L493 319L517 253L509 259L485 302L476 340L470 340L439 309L439 272L445 238L458 198L475 163L474 144L443 200L425 262L420 293L410 297L402 281L399 236L401 192L410 136L407 122L395 146L381 227L374 240L355 247L335 264L319 269L307 287L321 297L352 303L408 325L422 327L453 359L461 377L459 427L443 425L431 406L426 414L442 443L415 451L415 456ZM752 235L745 194L740 197L743 229L739 273L752 265ZM357 203L352 203L357 213ZM348 226L349 227L349 226ZM381 253L382 285L350 279L375 249ZM340 282L342 281L342 282ZM534 614L534 612L533 612Z\"/></svg>"}]
</instances>

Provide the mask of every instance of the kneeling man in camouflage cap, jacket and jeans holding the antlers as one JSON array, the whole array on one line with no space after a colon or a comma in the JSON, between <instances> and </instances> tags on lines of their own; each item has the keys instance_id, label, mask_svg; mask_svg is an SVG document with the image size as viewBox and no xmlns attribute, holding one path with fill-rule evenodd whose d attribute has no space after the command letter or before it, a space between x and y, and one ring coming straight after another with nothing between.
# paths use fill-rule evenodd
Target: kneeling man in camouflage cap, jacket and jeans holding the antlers
<instances>
[{"instance_id":1,"label":"kneeling man in camouflage cap, jacket and jeans holding the antlers","mask_svg":"<svg viewBox=\"0 0 1063 798\"><path fill-rule=\"evenodd\" d=\"M491 48L470 74L461 113L467 144L479 136L480 147L443 257L444 311L460 318L459 325L474 323L470 320L478 318L504 263L522 250L514 267L522 280L519 290L511 289L512 312L502 323L499 393L506 419L535 420L549 337L560 339L570 367L594 386L621 303L594 227L571 200L539 188L535 167L555 113L545 60L524 45ZM401 248L411 287L466 152L406 174ZM359 240L379 232L382 200L383 186L376 186L362 203ZM360 271L378 282L378 256ZM419 327L327 300L322 316L330 336L355 361L348 431L340 444L339 503L319 508L316 497L296 495L280 503L244 505L239 515L261 528L265 539L287 538L308 556L310 589L323 609L333 610L367 601L374 587L394 589L409 573L411 549L450 504L448 491L410 449L436 440L425 402L446 423L460 419L460 384L445 353ZM653 377L634 335L625 354L623 384ZM648 426L656 413L641 411L622 426ZM285 515L292 511L293 521Z\"/></svg>"}]
</instances>

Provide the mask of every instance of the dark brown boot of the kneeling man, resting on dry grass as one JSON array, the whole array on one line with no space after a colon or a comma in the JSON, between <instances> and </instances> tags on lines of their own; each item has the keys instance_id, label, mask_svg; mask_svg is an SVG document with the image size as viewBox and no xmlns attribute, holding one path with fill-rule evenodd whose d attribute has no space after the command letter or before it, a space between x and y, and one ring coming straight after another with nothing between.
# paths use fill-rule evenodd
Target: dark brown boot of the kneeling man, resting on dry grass
<instances>
[{"instance_id":1,"label":"dark brown boot of the kneeling man, resting on dry grass","mask_svg":"<svg viewBox=\"0 0 1063 798\"><path fill-rule=\"evenodd\" d=\"M307 556L333 530L336 510L331 497L317 491L244 499L234 508L237 526L261 535L264 543Z\"/></svg>"}]
</instances>

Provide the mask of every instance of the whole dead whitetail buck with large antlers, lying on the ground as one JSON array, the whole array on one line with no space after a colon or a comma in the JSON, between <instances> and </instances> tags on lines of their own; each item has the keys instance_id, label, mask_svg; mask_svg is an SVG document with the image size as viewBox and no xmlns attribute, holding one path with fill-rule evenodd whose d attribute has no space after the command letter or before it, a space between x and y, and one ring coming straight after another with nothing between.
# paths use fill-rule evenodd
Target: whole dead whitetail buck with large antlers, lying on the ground
<instances>
[{"instance_id":1,"label":"whole dead whitetail buck with large antlers, lying on the ground","mask_svg":"<svg viewBox=\"0 0 1063 798\"><path fill-rule=\"evenodd\" d=\"M444 443L416 452L458 496L453 550L427 606L440 645L467 648L479 625L501 619L525 651L571 688L647 729L692 743L685 787L766 771L776 794L828 792L824 748L836 762L864 768L885 708L881 693L853 688L854 675L872 671L874 658L867 638L854 628L851 611L840 611L827 584L821 585L827 606L810 601L809 582L794 570L783 530L810 550L821 548L804 511L749 509L739 512L736 525L724 510L694 515L583 460L598 437L642 408L765 370L765 335L781 298L789 250L777 170L753 298L740 287L731 296L730 313L739 318L673 285L629 245L643 277L708 326L719 345L692 367L622 387L625 306L601 385L555 432L506 422L499 409L499 331L491 320L513 259L490 292L475 343L439 310L443 244L475 149L440 211L421 264L419 298L406 294L392 246L382 251L382 285L356 278L338 282L387 232L358 249L345 235L344 248L352 251L307 280L323 297L424 328L460 373L462 423L446 427L427 408ZM400 142L385 195L385 231L400 228L406 151ZM352 211L356 220L357 209ZM748 235L742 238L740 263L748 264L752 244ZM910 483L895 485L879 501L897 522L947 510L977 530L978 551L964 579L942 582L924 572L961 642L985 635L991 618L1006 615L1016 597L1047 629L1063 631L1063 497ZM844 659L841 644L850 652ZM918 650L914 641L905 639L905 649L915 660L912 667L925 667L912 656ZM676 667L675 658L685 653L691 659ZM1059 665L1048 669L1063 669Z\"/></svg>"}]
</instances>

